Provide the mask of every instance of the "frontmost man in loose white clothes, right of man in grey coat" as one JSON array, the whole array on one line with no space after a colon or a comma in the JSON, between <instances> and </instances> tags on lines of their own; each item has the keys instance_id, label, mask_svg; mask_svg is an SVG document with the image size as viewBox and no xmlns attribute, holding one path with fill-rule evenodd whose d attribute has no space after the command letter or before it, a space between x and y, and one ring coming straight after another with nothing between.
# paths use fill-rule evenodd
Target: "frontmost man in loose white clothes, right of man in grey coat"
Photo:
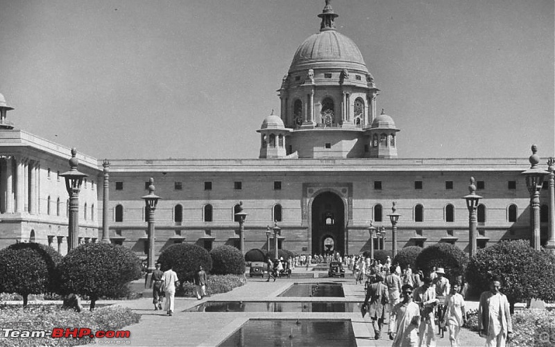
<instances>
[{"instance_id":1,"label":"frontmost man in loose white clothes, right of man in grey coat","mask_svg":"<svg viewBox=\"0 0 555 347\"><path fill-rule=\"evenodd\" d=\"M413 347L418 344L418 323L420 322L420 308L412 301L413 287L402 286L403 301L395 305L391 314L392 347Z\"/></svg>"}]
</instances>

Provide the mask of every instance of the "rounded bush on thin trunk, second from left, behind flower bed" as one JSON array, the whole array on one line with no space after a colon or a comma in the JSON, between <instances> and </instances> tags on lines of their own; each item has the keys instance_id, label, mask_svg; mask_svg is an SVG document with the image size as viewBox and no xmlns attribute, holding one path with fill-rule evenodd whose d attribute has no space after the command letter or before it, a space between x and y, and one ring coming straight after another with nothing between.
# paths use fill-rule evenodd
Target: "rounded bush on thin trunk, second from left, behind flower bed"
<instances>
[{"instance_id":1,"label":"rounded bush on thin trunk, second from left, behind flower bed","mask_svg":"<svg viewBox=\"0 0 555 347\"><path fill-rule=\"evenodd\" d=\"M60 294L89 296L92 311L101 296L118 298L125 295L127 283L141 274L141 262L126 247L86 243L69 251L58 270L62 279Z\"/></svg>"}]
</instances>

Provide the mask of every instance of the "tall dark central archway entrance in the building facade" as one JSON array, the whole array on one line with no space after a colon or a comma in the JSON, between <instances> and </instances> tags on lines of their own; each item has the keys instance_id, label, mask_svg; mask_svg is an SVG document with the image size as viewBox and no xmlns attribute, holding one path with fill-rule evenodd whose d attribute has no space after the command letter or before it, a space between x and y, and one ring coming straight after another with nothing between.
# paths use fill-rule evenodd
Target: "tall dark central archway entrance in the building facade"
<instances>
[{"instance_id":1,"label":"tall dark central archway entrance in the building facade","mask_svg":"<svg viewBox=\"0 0 555 347\"><path fill-rule=\"evenodd\" d=\"M345 254L345 205L332 192L321 193L312 202L312 253Z\"/></svg>"}]
</instances>

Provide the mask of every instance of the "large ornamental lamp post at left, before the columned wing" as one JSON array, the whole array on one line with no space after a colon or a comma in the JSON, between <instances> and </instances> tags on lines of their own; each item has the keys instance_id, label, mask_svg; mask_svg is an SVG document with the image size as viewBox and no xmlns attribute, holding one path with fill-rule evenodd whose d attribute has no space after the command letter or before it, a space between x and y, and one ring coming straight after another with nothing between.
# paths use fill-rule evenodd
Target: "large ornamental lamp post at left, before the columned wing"
<instances>
[{"instance_id":1,"label":"large ornamental lamp post at left, before the columned wing","mask_svg":"<svg viewBox=\"0 0 555 347\"><path fill-rule=\"evenodd\" d=\"M79 190L83 179L87 177L83 172L77 170L79 161L76 158L77 150L71 148L71 159L69 159L69 166L71 169L67 172L60 174L65 179L65 188L69 194L69 223L68 231L69 237L67 242L67 251L76 249L78 247L78 233L79 233Z\"/></svg>"}]
</instances>

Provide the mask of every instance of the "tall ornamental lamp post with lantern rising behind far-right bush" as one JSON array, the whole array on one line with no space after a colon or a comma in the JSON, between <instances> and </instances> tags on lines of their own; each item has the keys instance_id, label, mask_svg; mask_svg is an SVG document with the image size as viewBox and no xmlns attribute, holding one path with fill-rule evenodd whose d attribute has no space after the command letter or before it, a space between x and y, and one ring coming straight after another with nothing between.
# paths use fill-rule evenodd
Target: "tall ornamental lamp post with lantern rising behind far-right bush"
<instances>
[{"instance_id":1,"label":"tall ornamental lamp post with lantern rising behind far-right bush","mask_svg":"<svg viewBox=\"0 0 555 347\"><path fill-rule=\"evenodd\" d=\"M538 167L540 162L540 157L536 154L538 152L538 147L532 145L532 155L529 157L530 168L523 171L521 175L526 177L526 186L528 192L530 193L530 214L531 222L530 225L533 227L532 233L532 244L533 249L539 251L540 248L540 190L543 184L543 177L549 172L542 170Z\"/></svg>"}]
</instances>

